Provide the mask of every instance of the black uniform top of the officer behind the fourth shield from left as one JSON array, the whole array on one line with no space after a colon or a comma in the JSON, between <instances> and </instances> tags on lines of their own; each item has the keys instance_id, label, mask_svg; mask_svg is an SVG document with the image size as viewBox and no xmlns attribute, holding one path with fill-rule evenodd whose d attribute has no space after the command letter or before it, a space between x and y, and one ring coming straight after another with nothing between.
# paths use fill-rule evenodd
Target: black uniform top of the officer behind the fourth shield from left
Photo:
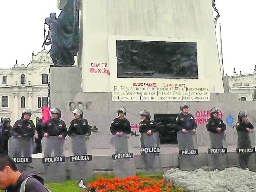
<instances>
[{"instance_id":1,"label":"black uniform top of the officer behind the fourth shield from left","mask_svg":"<svg viewBox=\"0 0 256 192\"><path fill-rule=\"evenodd\" d=\"M113 135L117 132L123 132L130 134L131 133L131 125L127 119L120 119L119 117L115 118L110 125L110 131Z\"/></svg>"}]
</instances>

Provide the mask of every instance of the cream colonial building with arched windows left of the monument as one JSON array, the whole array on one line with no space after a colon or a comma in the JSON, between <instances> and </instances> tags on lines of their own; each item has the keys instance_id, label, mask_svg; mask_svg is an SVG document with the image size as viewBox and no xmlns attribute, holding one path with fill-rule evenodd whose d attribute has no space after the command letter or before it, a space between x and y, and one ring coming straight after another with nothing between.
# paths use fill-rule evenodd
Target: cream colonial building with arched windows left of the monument
<instances>
[{"instance_id":1,"label":"cream colonial building with arched windows left of the monument","mask_svg":"<svg viewBox=\"0 0 256 192\"><path fill-rule=\"evenodd\" d=\"M13 124L24 108L31 108L32 118L42 117L42 107L48 107L49 68L52 60L42 50L32 53L32 61L25 67L17 62L11 69L0 69L0 117L9 116Z\"/></svg>"}]
</instances>

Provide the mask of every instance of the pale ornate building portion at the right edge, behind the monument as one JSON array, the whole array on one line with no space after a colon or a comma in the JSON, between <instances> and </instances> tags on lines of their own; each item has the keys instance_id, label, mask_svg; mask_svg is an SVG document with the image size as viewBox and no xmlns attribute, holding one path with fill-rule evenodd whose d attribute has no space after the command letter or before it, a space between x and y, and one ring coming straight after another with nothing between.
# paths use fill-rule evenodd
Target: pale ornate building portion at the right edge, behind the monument
<instances>
[{"instance_id":1,"label":"pale ornate building portion at the right edge, behind the monument","mask_svg":"<svg viewBox=\"0 0 256 192\"><path fill-rule=\"evenodd\" d=\"M239 100L252 101L253 93L256 90L256 66L252 74L237 74L234 70L233 76L228 83L229 92L238 93Z\"/></svg>"}]
</instances>

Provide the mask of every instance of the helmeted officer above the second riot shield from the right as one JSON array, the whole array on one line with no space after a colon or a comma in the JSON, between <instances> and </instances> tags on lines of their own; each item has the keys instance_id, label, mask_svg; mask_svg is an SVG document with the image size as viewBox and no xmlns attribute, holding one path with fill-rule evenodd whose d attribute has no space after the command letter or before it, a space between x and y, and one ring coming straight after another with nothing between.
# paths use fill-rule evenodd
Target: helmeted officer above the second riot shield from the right
<instances>
[{"instance_id":1,"label":"helmeted officer above the second riot shield from the right","mask_svg":"<svg viewBox=\"0 0 256 192\"><path fill-rule=\"evenodd\" d=\"M210 132L223 132L227 129L226 124L223 123L221 118L218 118L219 109L213 107L210 110L211 118L206 122L206 129Z\"/></svg>"}]
</instances>

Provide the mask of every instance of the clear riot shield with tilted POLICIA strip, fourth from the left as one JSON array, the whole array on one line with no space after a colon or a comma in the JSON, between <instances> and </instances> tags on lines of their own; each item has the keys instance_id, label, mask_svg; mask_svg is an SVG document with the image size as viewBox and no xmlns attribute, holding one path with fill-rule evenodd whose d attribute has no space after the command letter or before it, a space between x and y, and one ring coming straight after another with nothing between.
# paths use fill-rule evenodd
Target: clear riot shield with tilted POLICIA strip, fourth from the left
<instances>
[{"instance_id":1,"label":"clear riot shield with tilted POLICIA strip, fourth from the left","mask_svg":"<svg viewBox=\"0 0 256 192\"><path fill-rule=\"evenodd\" d=\"M123 134L120 137L112 135L110 143L115 149L112 155L115 177L124 178L136 175L133 153L130 150L129 134Z\"/></svg>"}]
</instances>

